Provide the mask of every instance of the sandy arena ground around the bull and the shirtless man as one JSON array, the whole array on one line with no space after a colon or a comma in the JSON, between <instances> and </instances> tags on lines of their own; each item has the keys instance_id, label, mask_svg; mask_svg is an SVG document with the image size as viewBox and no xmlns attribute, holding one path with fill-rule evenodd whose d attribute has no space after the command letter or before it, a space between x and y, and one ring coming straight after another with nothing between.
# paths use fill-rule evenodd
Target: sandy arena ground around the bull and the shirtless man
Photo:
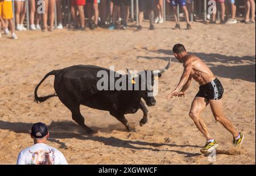
<instances>
[{"instance_id":1,"label":"sandy arena ground around the bull and the shirtless man","mask_svg":"<svg viewBox=\"0 0 256 176\"><path fill-rule=\"evenodd\" d=\"M18 153L32 145L31 125L49 125L51 139L69 164L255 164L255 25L205 25L193 30L172 30L173 22L156 25L155 31L53 31L18 32L19 40L0 39L0 163L15 164ZM184 23L181 26L185 27ZM183 43L201 57L222 81L224 114L246 139L232 154L232 135L217 123L207 107L201 116L220 144L216 161L200 153L203 135L188 116L198 90L193 82L185 98L166 100L183 72L174 60L159 80L155 107L148 107L149 121L139 127L142 111L126 115L137 132L125 127L108 112L81 107L85 122L98 133L88 136L71 119L71 112L58 98L37 104L34 89L46 73L77 64L115 69L158 69L172 56L170 49ZM39 95L53 93L53 77Z\"/></svg>"}]
</instances>

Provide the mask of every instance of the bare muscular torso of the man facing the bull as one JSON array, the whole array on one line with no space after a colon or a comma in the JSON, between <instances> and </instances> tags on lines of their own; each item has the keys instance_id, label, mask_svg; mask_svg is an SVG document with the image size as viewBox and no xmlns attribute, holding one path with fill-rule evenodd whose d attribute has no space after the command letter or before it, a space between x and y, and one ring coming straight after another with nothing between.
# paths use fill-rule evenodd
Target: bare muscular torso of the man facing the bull
<instances>
[{"instance_id":1,"label":"bare muscular torso of the man facing the bull","mask_svg":"<svg viewBox=\"0 0 256 176\"><path fill-rule=\"evenodd\" d=\"M200 85L205 85L206 83L211 82L213 81L213 79L215 79L212 71L199 57L195 55L188 55L185 57L187 57L185 58L187 61L185 61L183 64L184 69L186 66L192 65L190 77L192 77Z\"/></svg>"}]
</instances>

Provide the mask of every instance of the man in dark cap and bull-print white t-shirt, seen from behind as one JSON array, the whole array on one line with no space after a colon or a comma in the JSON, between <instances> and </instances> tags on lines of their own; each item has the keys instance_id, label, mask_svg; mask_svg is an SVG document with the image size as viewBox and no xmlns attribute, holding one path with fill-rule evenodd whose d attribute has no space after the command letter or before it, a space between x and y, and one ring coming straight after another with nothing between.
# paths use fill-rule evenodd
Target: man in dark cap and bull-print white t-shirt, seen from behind
<instances>
[{"instance_id":1,"label":"man in dark cap and bull-print white t-shirt, seen from behind","mask_svg":"<svg viewBox=\"0 0 256 176\"><path fill-rule=\"evenodd\" d=\"M46 145L49 132L44 123L35 123L31 128L31 138L34 145L22 150L18 155L17 165L68 165L64 155Z\"/></svg>"}]
</instances>

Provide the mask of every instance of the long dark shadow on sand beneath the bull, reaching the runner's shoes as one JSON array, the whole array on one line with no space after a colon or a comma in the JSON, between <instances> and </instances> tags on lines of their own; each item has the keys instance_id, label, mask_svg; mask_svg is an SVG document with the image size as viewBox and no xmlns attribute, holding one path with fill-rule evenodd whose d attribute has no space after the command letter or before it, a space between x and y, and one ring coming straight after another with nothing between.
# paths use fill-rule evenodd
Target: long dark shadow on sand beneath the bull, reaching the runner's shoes
<instances>
[{"instance_id":1,"label":"long dark shadow on sand beneath the bull, reaching the runner's shoes","mask_svg":"<svg viewBox=\"0 0 256 176\"><path fill-rule=\"evenodd\" d=\"M32 123L8 122L8 121L0 120L0 129L7 129L15 133L29 134L31 127L32 127ZM151 150L154 152L176 152L177 154L185 155L185 157L195 157L195 156L201 155L201 153L189 153L189 152L182 152L179 150L155 149L160 146L181 147L181 148L184 148L184 147L200 148L200 146L198 145L176 145L176 144L164 144L164 143L148 143L145 141L122 140L116 137L96 136L97 133L93 136L88 136L79 125L73 123L72 121L52 122L50 125L48 125L48 129L50 132L50 139L48 140L53 143L60 144L60 148L67 148L67 145L59 141L59 139L75 138L79 140L97 141L100 143L104 143L105 145L114 146L118 148L129 148L133 150ZM79 131L79 133L73 132L74 129L76 131ZM95 128L92 127L92 129L95 129ZM65 132L61 132L61 131L65 131ZM68 131L72 131L72 132L68 132Z\"/></svg>"}]
</instances>

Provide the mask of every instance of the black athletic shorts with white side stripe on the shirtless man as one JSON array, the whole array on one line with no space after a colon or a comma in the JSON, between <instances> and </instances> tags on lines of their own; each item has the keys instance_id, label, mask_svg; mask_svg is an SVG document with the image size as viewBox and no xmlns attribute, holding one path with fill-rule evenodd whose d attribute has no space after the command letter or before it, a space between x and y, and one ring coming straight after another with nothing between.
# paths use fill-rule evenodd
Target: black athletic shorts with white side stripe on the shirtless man
<instances>
[{"instance_id":1,"label":"black athletic shorts with white side stripe on the shirtless man","mask_svg":"<svg viewBox=\"0 0 256 176\"><path fill-rule=\"evenodd\" d=\"M221 82L216 78L212 82L201 85L196 97L204 97L207 100L217 100L222 98L223 93L224 88L221 85Z\"/></svg>"}]
</instances>

